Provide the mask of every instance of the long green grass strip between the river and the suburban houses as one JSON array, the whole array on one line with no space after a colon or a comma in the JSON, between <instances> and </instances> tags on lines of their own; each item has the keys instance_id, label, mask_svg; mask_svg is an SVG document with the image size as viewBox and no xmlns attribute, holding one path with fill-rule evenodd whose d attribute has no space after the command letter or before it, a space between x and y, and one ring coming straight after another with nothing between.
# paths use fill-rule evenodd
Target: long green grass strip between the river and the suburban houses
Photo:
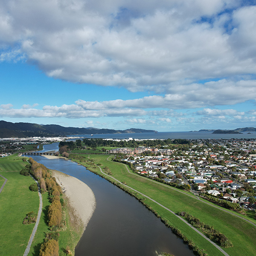
<instances>
[{"instance_id":1,"label":"long green grass strip between the river and the suburban houses","mask_svg":"<svg viewBox=\"0 0 256 256\"><path fill-rule=\"evenodd\" d=\"M83 156L87 157L88 160L88 155ZM128 186L137 191L148 195L150 198L171 209L176 214L180 211L186 211L199 218L204 223L212 225L216 230L227 236L233 243L233 247L223 248L230 256L256 255L256 227L252 224L231 215L228 212L224 212L219 208L212 207L212 205L205 204L204 200L198 200L189 195L180 193L179 189L172 189L163 186L161 183L153 183L151 180L143 179L139 175L131 175L127 172L124 165L116 162L109 162L107 158L108 156L104 155L90 155L90 160L93 159L96 164L102 165L102 168L108 166L113 173L111 176L122 183L125 182ZM88 167L88 169L92 168L92 166ZM98 168L93 168L92 170L100 173ZM206 250L209 256L223 255L207 240L180 221L177 216L147 198L145 198L144 201L154 208L160 216L168 219L170 224L178 227L183 234L194 241L201 249ZM250 220L256 223L255 220L251 218Z\"/></svg>"}]
</instances>

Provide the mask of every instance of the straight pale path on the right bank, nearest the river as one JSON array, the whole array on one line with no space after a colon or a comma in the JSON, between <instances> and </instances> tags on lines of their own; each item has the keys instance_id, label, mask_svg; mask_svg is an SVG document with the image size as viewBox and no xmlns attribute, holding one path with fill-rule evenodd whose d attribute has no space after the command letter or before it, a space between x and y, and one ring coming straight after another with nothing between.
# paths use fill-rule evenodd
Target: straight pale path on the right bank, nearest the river
<instances>
[{"instance_id":1,"label":"straight pale path on the right bank, nearest the river","mask_svg":"<svg viewBox=\"0 0 256 256\"><path fill-rule=\"evenodd\" d=\"M108 160L109 161L109 160ZM125 164L124 164L125 165ZM126 165L125 165L126 166ZM98 166L99 167L99 166ZM126 166L127 168L127 166ZM99 167L100 171L102 172L102 169ZM128 170L128 168L127 168ZM129 172L129 170L128 170ZM104 175L111 177L112 179L116 180L119 183L122 183L121 181L117 180L116 178L112 177L111 175L107 175L105 174L105 172L102 172ZM131 172L129 172L131 173ZM131 173L132 174L132 173ZM141 177L141 176L140 176ZM177 218L179 218L181 221L183 221L185 224L187 224L189 227L191 227L193 230L195 230L195 232L197 232L200 236L204 237L204 239L206 239L207 241L209 241L213 246L215 246L218 250L220 250L225 256L229 256L229 254L227 254L221 247L219 247L217 244L215 244L213 241L211 241L207 236L205 236L203 233L201 233L199 230L197 230L195 227L193 227L191 224L189 224L188 222L186 222L183 218L181 218L180 216L176 215L175 212L171 211L170 209L168 209L167 207L163 206L162 204L158 203L157 201L155 201L154 199L148 197L147 195L144 195L143 193L133 189L130 186L127 186L125 184L122 183L123 186L126 186L129 189L132 189L133 191L139 193L140 195L143 195L144 197L150 199L151 201L153 201L154 203L160 205L161 207L163 207L164 209L166 209L167 211L171 212L172 214L174 214Z\"/></svg>"}]
</instances>

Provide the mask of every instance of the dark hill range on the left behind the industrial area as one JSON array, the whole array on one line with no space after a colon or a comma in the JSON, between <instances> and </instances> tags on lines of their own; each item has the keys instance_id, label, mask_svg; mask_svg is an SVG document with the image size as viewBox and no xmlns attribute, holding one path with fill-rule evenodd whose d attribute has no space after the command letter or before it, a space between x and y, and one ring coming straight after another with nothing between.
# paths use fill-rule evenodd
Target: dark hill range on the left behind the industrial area
<instances>
[{"instance_id":1,"label":"dark hill range on the left behind the industrial area","mask_svg":"<svg viewBox=\"0 0 256 256\"><path fill-rule=\"evenodd\" d=\"M93 127L76 128L63 127L61 125L38 125L32 123L12 123L0 121L0 138L22 137L55 137L78 134L131 134L131 133L155 133L157 131L130 128L127 130L98 129Z\"/></svg>"}]
</instances>

